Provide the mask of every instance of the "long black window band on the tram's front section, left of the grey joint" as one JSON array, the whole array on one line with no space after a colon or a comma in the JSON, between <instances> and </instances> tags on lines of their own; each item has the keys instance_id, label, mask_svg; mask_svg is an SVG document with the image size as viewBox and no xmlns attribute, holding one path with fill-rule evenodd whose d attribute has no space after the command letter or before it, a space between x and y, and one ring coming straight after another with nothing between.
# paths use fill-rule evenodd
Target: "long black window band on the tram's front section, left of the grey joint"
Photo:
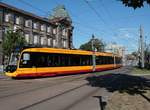
<instances>
[{"instance_id":1,"label":"long black window band on the tram's front section, left of the grey joint","mask_svg":"<svg viewBox=\"0 0 150 110\"><path fill-rule=\"evenodd\" d=\"M92 65L92 56L73 54L24 53L21 57L20 68L31 67L61 67Z\"/></svg>"}]
</instances>

